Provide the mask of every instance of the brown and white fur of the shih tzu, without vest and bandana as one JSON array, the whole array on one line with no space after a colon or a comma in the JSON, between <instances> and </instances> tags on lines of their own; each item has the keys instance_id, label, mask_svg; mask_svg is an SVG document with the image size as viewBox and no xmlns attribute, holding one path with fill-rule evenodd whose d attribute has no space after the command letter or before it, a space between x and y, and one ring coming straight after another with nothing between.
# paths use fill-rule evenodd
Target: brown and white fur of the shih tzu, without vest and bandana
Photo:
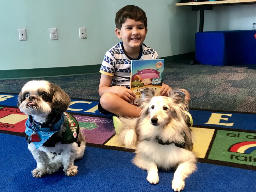
<instances>
[{"instance_id":1,"label":"brown and white fur of the shih tzu, without vest and bandana","mask_svg":"<svg viewBox=\"0 0 256 192\"><path fill-rule=\"evenodd\" d=\"M33 120L39 123L49 121L50 116L63 113L70 105L70 97L57 85L48 81L27 82L18 96L18 108L26 115L31 115ZM64 121L67 121L64 117ZM64 122L61 130L55 133L55 137L62 137L62 133L67 129ZM77 141L70 144L56 143L55 147L40 146L35 148L31 142L28 148L37 162L37 167L32 171L33 177L42 177L46 173L52 174L63 167L67 176L74 176L78 172L78 167L74 165L74 160L83 157L86 140L79 131ZM52 136L51 136L52 137ZM50 137L50 138L51 138Z\"/></svg>"}]
</instances>

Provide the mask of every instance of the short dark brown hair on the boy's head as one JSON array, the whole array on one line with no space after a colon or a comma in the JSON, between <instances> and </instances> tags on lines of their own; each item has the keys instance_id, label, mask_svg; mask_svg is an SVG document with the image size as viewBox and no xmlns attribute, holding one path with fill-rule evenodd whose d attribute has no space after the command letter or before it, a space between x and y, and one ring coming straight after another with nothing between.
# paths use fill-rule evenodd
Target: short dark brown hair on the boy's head
<instances>
[{"instance_id":1,"label":"short dark brown hair on the boy's head","mask_svg":"<svg viewBox=\"0 0 256 192\"><path fill-rule=\"evenodd\" d=\"M122 24L126 19L134 19L135 21L141 21L147 28L147 17L145 11L135 5L127 5L121 8L115 15L115 26L117 29L122 28Z\"/></svg>"}]
</instances>

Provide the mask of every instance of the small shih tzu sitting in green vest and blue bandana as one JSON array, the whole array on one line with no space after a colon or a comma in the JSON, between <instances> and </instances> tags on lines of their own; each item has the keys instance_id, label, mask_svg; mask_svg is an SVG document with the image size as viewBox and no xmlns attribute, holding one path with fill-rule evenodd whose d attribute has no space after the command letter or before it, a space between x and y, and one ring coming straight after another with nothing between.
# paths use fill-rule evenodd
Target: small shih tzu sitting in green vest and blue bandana
<instances>
[{"instance_id":1,"label":"small shih tzu sitting in green vest and blue bandana","mask_svg":"<svg viewBox=\"0 0 256 192\"><path fill-rule=\"evenodd\" d=\"M25 133L37 163L33 177L55 173L61 167L67 176L78 172L74 160L83 157L86 140L77 120L65 113L70 102L59 86L48 81L29 81L19 93L17 106L29 115Z\"/></svg>"}]
</instances>

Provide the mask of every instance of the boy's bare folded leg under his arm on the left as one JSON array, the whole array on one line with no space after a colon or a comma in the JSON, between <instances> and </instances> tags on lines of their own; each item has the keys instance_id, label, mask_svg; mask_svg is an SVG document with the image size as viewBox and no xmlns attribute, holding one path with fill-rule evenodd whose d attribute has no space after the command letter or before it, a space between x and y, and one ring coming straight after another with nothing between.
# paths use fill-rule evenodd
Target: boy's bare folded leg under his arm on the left
<instances>
[{"instance_id":1,"label":"boy's bare folded leg under his arm on the left","mask_svg":"<svg viewBox=\"0 0 256 192\"><path fill-rule=\"evenodd\" d=\"M112 92L104 93L100 98L100 104L105 110L123 117L139 117L141 112L141 108L130 104Z\"/></svg>"}]
</instances>

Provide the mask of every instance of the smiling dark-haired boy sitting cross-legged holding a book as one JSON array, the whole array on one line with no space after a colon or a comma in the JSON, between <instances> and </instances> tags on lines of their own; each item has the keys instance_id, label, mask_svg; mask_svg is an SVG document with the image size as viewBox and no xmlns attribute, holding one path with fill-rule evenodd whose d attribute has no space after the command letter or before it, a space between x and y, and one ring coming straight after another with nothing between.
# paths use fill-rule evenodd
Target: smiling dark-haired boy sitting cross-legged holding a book
<instances>
[{"instance_id":1,"label":"smiling dark-haired boy sitting cross-legged holding a book","mask_svg":"<svg viewBox=\"0 0 256 192\"><path fill-rule=\"evenodd\" d=\"M115 16L115 34L122 42L106 52L100 68L98 109L108 117L113 116L114 125L118 118L139 117L141 108L130 104L135 94L130 90L131 60L157 59L154 49L143 44L147 34L147 17L145 12L134 5L121 8ZM161 96L167 96L170 87L163 83ZM189 93L186 101L189 102ZM116 126L115 126L116 127Z\"/></svg>"}]
</instances>

